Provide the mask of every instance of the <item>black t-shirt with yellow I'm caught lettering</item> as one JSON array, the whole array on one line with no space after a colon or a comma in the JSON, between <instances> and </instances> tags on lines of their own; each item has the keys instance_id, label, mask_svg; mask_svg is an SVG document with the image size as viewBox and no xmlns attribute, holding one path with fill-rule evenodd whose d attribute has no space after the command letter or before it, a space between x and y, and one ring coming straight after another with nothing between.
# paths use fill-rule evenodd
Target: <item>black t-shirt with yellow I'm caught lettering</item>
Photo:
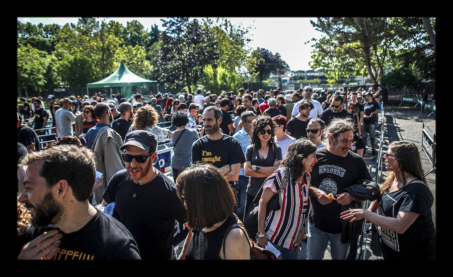
<instances>
[{"instance_id":1,"label":"black t-shirt with yellow I'm caught lettering","mask_svg":"<svg viewBox=\"0 0 453 277\"><path fill-rule=\"evenodd\" d=\"M219 140L210 140L207 135L197 139L192 144L192 163L208 162L220 168L226 164L245 162L239 140L223 134Z\"/></svg>"}]
</instances>

